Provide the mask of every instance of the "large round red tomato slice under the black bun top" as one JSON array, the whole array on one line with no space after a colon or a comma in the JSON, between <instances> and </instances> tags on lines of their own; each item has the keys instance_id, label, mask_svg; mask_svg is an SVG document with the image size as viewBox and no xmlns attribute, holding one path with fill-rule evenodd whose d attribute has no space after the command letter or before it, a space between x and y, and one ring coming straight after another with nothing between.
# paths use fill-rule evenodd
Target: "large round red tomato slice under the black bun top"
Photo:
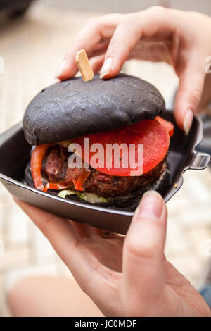
<instances>
[{"instance_id":1,"label":"large round red tomato slice under the black bun top","mask_svg":"<svg viewBox=\"0 0 211 331\"><path fill-rule=\"evenodd\" d=\"M90 149L87 154L87 150L84 150L84 138L89 138L89 146L94 144L101 144L103 149ZM127 125L114 130L99 132L96 134L85 135L77 139L73 139L74 143L81 146L82 158L89 163L92 168L96 168L101 173L115 176L134 176L147 173L151 169L155 168L162 158L167 154L170 136L166 128L161 125L158 120L141 120L133 125ZM106 149L108 144L117 143L119 146L124 144L125 149L120 149L120 154L110 154L109 166L108 155L106 158ZM134 162L136 167L131 165L129 158L129 144L134 144ZM143 144L143 158L142 164L137 163L138 156L140 155L139 145ZM94 145L97 146L97 145ZM97 154L97 158L96 158ZM96 160L96 163L92 163ZM120 163L118 164L117 158Z\"/></svg>"}]
</instances>

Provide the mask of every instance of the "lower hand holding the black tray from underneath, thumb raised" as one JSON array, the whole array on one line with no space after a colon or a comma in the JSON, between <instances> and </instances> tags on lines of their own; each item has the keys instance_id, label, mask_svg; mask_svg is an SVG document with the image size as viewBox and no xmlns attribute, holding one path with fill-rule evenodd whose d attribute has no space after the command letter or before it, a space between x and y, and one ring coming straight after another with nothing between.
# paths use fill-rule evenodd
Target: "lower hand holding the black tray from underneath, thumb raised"
<instances>
[{"instance_id":1,"label":"lower hand holding the black tray from underneath, thumb raised","mask_svg":"<svg viewBox=\"0 0 211 331\"><path fill-rule=\"evenodd\" d=\"M210 316L200 294L165 260L165 202L143 195L126 237L16 200L106 316Z\"/></svg>"}]
</instances>

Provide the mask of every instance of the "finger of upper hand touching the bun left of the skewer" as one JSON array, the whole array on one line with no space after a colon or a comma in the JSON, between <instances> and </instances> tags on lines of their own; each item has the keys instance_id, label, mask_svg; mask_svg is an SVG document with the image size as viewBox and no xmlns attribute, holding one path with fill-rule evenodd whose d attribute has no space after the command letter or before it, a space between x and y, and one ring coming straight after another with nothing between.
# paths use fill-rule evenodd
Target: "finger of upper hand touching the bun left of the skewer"
<instances>
[{"instance_id":1,"label":"finger of upper hand touching the bun left of the skewer","mask_svg":"<svg viewBox=\"0 0 211 331\"><path fill-rule=\"evenodd\" d=\"M77 51L85 49L87 55L90 57L94 49L98 49L98 43L101 40L110 39L121 17L121 14L110 14L101 18L91 19L81 32L79 32L79 35L77 35L75 42L58 68L56 77L60 80L66 80L74 76L77 73L77 65L75 63L75 54ZM103 47L105 45L101 46ZM101 46L99 46L100 49Z\"/></svg>"}]
</instances>

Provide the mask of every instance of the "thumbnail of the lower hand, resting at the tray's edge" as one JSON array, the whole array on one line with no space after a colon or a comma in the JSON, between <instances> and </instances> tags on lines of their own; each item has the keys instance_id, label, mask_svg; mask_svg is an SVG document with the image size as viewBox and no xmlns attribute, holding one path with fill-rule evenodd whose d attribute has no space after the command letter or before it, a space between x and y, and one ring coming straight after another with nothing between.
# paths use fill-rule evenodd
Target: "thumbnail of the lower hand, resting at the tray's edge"
<instances>
[{"instance_id":1,"label":"thumbnail of the lower hand, resting at the tray's edge","mask_svg":"<svg viewBox=\"0 0 211 331\"><path fill-rule=\"evenodd\" d=\"M141 199L139 207L136 209L141 218L150 218L151 220L160 220L165 204L162 196L156 191L146 191Z\"/></svg>"}]
</instances>

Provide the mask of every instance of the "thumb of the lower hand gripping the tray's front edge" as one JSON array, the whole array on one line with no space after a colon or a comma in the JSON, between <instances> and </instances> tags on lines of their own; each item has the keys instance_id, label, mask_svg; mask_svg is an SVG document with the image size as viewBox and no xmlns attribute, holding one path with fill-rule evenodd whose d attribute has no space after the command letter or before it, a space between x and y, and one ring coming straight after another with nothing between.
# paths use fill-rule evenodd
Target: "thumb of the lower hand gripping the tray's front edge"
<instances>
[{"instance_id":1,"label":"thumb of the lower hand gripping the tray's front edge","mask_svg":"<svg viewBox=\"0 0 211 331\"><path fill-rule=\"evenodd\" d=\"M140 309L140 303L150 305L164 288L166 220L162 196L155 191L146 192L124 240L124 302L132 309ZM134 298L139 298L139 303Z\"/></svg>"}]
</instances>

